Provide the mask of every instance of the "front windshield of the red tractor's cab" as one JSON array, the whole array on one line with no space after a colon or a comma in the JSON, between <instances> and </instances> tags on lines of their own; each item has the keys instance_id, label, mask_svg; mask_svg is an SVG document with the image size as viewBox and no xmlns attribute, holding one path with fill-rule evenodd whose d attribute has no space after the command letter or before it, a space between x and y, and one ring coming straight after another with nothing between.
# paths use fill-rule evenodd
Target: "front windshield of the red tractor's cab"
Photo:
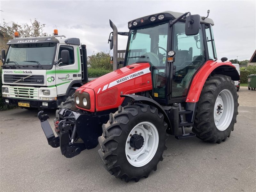
<instances>
[{"instance_id":1,"label":"front windshield of the red tractor's cab","mask_svg":"<svg viewBox=\"0 0 256 192\"><path fill-rule=\"evenodd\" d=\"M148 61L155 67L165 67L168 23L131 30L126 54L126 65Z\"/></svg>"}]
</instances>

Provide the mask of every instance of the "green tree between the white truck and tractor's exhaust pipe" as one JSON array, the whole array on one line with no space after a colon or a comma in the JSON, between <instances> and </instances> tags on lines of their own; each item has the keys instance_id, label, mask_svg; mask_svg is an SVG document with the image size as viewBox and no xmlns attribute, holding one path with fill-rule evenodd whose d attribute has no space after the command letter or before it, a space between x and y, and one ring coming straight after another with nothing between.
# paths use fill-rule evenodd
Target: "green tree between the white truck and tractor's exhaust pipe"
<instances>
[{"instance_id":1,"label":"green tree between the white truck and tractor's exhaust pipe","mask_svg":"<svg viewBox=\"0 0 256 192\"><path fill-rule=\"evenodd\" d=\"M88 64L90 64L92 68L113 70L113 65L110 64L110 51L93 52Z\"/></svg>"}]
</instances>

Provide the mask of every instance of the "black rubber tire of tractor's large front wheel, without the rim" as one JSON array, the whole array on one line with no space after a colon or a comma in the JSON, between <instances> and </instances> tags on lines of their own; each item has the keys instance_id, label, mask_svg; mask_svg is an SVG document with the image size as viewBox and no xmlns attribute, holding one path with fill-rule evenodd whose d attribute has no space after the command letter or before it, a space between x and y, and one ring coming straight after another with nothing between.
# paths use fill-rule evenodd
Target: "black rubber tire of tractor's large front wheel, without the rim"
<instances>
[{"instance_id":1,"label":"black rubber tire of tractor's large front wheel, without the rim","mask_svg":"<svg viewBox=\"0 0 256 192\"><path fill-rule=\"evenodd\" d=\"M130 180L135 180L136 182L140 180L140 178L147 178L149 173L152 171L148 171L145 174L140 176L132 176L129 173L124 172L121 169L120 162L118 162L118 156L115 153L115 150L118 148L117 137L119 137L122 132L124 132L124 125L130 123L130 119L132 117L138 115L138 113L153 113L161 119L164 125L164 129L167 129L167 124L164 122L163 114L158 112L158 109L146 104L135 103L134 105L128 105L125 107L119 106L118 110L114 114L109 115L109 121L107 124L102 125L102 136L99 137L98 141L100 143L99 155L102 159L103 166L114 175L116 178L123 179L128 182ZM165 131L164 130L164 131ZM164 150L167 149L165 142L167 140L167 134L164 132ZM159 137L160 143L160 137ZM157 162L163 160L163 151L160 155L160 158ZM156 165L157 165L156 164ZM153 167L153 170L156 171L157 167Z\"/></svg>"}]
</instances>

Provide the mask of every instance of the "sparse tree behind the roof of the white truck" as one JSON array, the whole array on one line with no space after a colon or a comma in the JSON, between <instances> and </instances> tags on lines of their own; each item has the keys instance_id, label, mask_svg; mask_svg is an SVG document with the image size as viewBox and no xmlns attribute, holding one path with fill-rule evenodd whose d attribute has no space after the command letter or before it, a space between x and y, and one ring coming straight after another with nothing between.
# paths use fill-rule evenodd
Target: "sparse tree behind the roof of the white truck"
<instances>
[{"instance_id":1,"label":"sparse tree behind the roof of the white truck","mask_svg":"<svg viewBox=\"0 0 256 192\"><path fill-rule=\"evenodd\" d=\"M37 19L30 20L31 24L18 24L12 21L9 25L8 23L3 22L3 26L0 28L0 32L4 36L4 42L8 42L10 39L14 38L14 32L19 32L20 37L36 37L36 36L47 36L47 33L44 33L45 24L40 23ZM8 46L2 43L1 49L7 49Z\"/></svg>"}]
</instances>

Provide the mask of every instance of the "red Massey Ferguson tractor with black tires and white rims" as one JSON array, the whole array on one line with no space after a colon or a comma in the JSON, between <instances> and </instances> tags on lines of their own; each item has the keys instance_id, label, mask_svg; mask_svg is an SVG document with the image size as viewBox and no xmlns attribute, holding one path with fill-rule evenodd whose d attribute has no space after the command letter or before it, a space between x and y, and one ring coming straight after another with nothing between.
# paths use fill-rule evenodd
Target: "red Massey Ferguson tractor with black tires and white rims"
<instances>
[{"instance_id":1,"label":"red Massey Ferguson tractor with black tires and white rims","mask_svg":"<svg viewBox=\"0 0 256 192\"><path fill-rule=\"evenodd\" d=\"M129 32L118 32L110 21L117 69L61 104L54 119L57 137L49 116L38 113L48 144L68 158L99 144L104 167L128 182L156 171L168 134L213 143L230 137L239 75L227 58L217 61L208 15L161 12L129 21ZM124 61L117 63L118 34L128 42Z\"/></svg>"}]
</instances>

